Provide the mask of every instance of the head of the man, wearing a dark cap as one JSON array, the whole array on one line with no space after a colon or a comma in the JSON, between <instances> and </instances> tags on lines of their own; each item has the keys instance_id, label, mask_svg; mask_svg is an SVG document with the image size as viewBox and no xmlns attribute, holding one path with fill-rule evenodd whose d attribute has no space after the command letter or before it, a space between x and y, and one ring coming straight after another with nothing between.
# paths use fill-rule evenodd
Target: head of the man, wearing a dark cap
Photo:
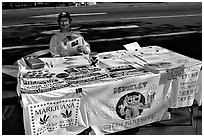
<instances>
[{"instance_id":1,"label":"head of the man, wearing a dark cap","mask_svg":"<svg viewBox=\"0 0 204 137\"><path fill-rule=\"evenodd\" d=\"M69 30L71 21L72 19L68 12L62 12L58 15L57 22L61 30Z\"/></svg>"}]
</instances>

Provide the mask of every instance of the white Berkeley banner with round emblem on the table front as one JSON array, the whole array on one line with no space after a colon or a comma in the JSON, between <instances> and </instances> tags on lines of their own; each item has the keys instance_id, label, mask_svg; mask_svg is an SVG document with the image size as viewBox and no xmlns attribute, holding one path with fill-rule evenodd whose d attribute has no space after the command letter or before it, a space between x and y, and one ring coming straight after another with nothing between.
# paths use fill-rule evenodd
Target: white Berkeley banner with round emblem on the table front
<instances>
[{"instance_id":1,"label":"white Berkeley banner with round emblem on the table front","mask_svg":"<svg viewBox=\"0 0 204 137\"><path fill-rule=\"evenodd\" d=\"M118 132L169 119L171 82L159 85L159 80L160 74L154 74L87 89L85 108L95 134Z\"/></svg>"}]
</instances>

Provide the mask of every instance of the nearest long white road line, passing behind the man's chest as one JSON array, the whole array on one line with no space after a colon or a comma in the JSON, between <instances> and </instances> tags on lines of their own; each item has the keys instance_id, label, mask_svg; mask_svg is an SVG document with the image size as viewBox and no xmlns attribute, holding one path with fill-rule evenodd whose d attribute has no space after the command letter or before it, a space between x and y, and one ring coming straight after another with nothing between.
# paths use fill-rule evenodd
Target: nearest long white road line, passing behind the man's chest
<instances>
[{"instance_id":1,"label":"nearest long white road line, passing behind the man's chest","mask_svg":"<svg viewBox=\"0 0 204 137\"><path fill-rule=\"evenodd\" d=\"M87 40L87 42L117 41L117 40L123 40L123 39L138 39L138 38L147 38L147 37L175 36L175 35L185 35L185 34L193 34L193 33L202 33L202 31L185 31L185 32L165 33L165 34L150 34L150 35L143 35L143 36L129 36L129 37L112 38L112 39L97 39L97 40ZM48 47L48 46L49 46L49 44L12 46L12 47L2 47L2 50L34 48L34 47Z\"/></svg>"}]
</instances>

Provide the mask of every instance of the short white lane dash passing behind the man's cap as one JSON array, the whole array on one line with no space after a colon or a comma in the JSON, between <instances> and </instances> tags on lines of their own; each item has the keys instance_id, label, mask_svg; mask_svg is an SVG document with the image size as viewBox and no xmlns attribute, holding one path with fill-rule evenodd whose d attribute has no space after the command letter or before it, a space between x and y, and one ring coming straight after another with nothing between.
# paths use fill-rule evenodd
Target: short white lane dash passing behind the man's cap
<instances>
[{"instance_id":1,"label":"short white lane dash passing behind the man's cap","mask_svg":"<svg viewBox=\"0 0 204 137\"><path fill-rule=\"evenodd\" d=\"M92 15L105 15L107 13L80 13L80 14L70 14L71 17L74 16L92 16ZM40 15L40 16L31 16L29 18L52 18L52 17L57 17L58 14L50 14L50 15Z\"/></svg>"}]
</instances>

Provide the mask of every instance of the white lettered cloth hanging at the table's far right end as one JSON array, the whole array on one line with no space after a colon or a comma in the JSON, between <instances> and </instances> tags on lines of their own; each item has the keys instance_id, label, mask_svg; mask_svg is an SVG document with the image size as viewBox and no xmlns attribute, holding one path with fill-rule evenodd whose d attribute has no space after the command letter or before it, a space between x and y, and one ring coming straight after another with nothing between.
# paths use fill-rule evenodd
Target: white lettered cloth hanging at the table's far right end
<instances>
[{"instance_id":1,"label":"white lettered cloth hanging at the table's far right end","mask_svg":"<svg viewBox=\"0 0 204 137\"><path fill-rule=\"evenodd\" d=\"M198 85L201 65L186 67L184 75L173 81L170 107L188 107L193 105ZM197 91L198 92L198 91ZM199 91L201 92L201 91Z\"/></svg>"}]
</instances>

